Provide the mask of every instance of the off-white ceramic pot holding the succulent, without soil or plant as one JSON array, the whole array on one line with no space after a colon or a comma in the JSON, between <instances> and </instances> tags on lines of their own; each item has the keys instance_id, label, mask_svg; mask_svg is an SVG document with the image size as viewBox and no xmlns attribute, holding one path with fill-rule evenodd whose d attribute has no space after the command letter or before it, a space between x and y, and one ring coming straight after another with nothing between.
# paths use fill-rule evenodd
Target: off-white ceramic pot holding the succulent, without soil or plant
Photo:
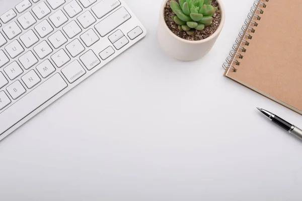
<instances>
[{"instance_id":1,"label":"off-white ceramic pot holding the succulent, without soil or plant","mask_svg":"<svg viewBox=\"0 0 302 201\"><path fill-rule=\"evenodd\" d=\"M219 4L221 21L218 29L210 37L199 40L189 41L176 36L167 26L164 19L164 9L168 0L163 0L160 19L158 25L158 39L162 48L171 56L182 61L194 61L202 58L213 47L224 25L224 8L221 0L216 0Z\"/></svg>"}]
</instances>

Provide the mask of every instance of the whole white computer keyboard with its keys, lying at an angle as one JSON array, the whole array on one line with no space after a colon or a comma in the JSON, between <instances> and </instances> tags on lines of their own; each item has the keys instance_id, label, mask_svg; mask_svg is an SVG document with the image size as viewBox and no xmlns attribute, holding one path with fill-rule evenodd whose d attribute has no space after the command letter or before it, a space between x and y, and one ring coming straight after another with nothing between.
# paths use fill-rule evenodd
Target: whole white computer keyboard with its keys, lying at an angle
<instances>
[{"instance_id":1,"label":"whole white computer keyboard with its keys, lying at an angle","mask_svg":"<svg viewBox=\"0 0 302 201\"><path fill-rule=\"evenodd\" d=\"M146 34L122 0L24 0L0 19L0 140Z\"/></svg>"}]
</instances>

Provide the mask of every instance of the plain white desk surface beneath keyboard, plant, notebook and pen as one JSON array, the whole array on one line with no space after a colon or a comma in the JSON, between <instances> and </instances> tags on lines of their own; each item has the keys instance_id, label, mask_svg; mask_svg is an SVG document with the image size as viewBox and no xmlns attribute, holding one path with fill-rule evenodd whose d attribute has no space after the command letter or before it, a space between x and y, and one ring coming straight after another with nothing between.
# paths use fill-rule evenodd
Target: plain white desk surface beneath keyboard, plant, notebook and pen
<instances>
[{"instance_id":1,"label":"plain white desk surface beneath keyboard, plant, notebook and pen","mask_svg":"<svg viewBox=\"0 0 302 201\"><path fill-rule=\"evenodd\" d=\"M302 142L255 107L302 116L222 76L254 0L223 1L195 62L161 50L162 0L141 2L142 41L0 142L0 200L300 200Z\"/></svg>"}]
</instances>

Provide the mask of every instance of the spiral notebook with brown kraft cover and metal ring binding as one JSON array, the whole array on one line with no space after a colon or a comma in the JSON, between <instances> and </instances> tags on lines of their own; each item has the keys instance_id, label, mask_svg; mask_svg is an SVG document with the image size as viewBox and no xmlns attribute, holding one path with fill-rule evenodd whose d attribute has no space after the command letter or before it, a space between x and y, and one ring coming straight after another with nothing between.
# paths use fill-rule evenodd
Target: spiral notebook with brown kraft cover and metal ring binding
<instances>
[{"instance_id":1,"label":"spiral notebook with brown kraft cover and metal ring binding","mask_svg":"<svg viewBox=\"0 0 302 201\"><path fill-rule=\"evenodd\" d=\"M226 58L224 75L302 115L301 0L261 0Z\"/></svg>"}]
</instances>

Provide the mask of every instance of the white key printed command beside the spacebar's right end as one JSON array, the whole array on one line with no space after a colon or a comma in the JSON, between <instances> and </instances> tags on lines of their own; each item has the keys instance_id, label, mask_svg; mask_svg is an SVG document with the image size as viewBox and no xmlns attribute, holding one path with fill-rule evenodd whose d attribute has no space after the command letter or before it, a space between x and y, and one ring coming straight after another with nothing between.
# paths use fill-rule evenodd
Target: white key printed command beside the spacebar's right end
<instances>
[{"instance_id":1,"label":"white key printed command beside the spacebar's right end","mask_svg":"<svg viewBox=\"0 0 302 201\"><path fill-rule=\"evenodd\" d=\"M61 72L69 83L73 83L75 80L78 80L80 77L86 74L85 69L82 67L78 60L72 61L69 65L63 68Z\"/></svg>"}]
</instances>

